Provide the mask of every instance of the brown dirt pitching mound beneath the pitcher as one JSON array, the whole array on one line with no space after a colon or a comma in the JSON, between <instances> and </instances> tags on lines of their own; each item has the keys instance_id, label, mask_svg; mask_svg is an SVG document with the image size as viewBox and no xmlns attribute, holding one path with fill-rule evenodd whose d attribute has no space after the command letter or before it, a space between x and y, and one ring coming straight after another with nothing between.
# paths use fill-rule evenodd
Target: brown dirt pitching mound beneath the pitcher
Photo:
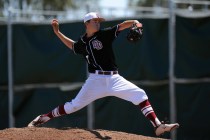
<instances>
[{"instance_id":1,"label":"brown dirt pitching mound beneath the pitcher","mask_svg":"<svg viewBox=\"0 0 210 140\"><path fill-rule=\"evenodd\" d=\"M125 132L79 128L9 128L0 130L0 140L163 140Z\"/></svg>"}]
</instances>

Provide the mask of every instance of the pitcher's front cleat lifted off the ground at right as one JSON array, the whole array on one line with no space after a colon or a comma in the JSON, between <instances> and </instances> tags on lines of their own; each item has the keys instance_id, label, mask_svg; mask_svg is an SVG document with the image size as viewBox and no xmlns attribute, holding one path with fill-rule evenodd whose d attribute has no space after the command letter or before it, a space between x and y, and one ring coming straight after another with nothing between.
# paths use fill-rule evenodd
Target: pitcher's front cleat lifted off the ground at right
<instances>
[{"instance_id":1,"label":"pitcher's front cleat lifted off the ground at right","mask_svg":"<svg viewBox=\"0 0 210 140\"><path fill-rule=\"evenodd\" d=\"M176 128L179 127L178 123L174 124L160 124L156 129L155 129L155 134L156 136L163 135L165 132L170 132Z\"/></svg>"}]
</instances>

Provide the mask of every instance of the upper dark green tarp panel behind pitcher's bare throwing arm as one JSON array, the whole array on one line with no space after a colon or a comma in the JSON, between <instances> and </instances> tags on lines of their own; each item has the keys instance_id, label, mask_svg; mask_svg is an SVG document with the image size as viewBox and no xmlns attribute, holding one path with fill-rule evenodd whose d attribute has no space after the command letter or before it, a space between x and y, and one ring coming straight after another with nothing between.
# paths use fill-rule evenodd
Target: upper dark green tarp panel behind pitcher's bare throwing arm
<instances>
[{"instance_id":1,"label":"upper dark green tarp panel behind pitcher's bare throwing arm","mask_svg":"<svg viewBox=\"0 0 210 140\"><path fill-rule=\"evenodd\" d=\"M62 27L65 32L72 30L69 25ZM84 80L84 62L61 43L50 25L15 25L13 28L16 84ZM75 32L75 36L78 35Z\"/></svg>"}]
</instances>

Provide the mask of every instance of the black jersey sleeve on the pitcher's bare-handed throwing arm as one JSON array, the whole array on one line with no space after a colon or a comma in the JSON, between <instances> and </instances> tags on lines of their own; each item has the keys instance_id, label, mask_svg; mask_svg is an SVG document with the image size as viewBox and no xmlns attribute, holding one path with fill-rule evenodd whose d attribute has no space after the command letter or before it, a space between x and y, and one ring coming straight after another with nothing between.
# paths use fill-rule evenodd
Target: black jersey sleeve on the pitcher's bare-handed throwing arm
<instances>
[{"instance_id":1,"label":"black jersey sleeve on the pitcher's bare-handed throwing arm","mask_svg":"<svg viewBox=\"0 0 210 140\"><path fill-rule=\"evenodd\" d=\"M84 54L86 52L85 46L85 43L81 39L79 39L73 44L72 50L74 54Z\"/></svg>"}]
</instances>

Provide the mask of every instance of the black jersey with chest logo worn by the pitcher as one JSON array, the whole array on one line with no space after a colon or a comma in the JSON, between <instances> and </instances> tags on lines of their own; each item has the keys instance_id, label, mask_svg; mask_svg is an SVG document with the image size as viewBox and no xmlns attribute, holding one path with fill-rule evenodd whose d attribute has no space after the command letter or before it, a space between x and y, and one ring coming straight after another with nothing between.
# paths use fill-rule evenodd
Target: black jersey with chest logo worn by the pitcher
<instances>
[{"instance_id":1,"label":"black jersey with chest logo worn by the pitcher","mask_svg":"<svg viewBox=\"0 0 210 140\"><path fill-rule=\"evenodd\" d=\"M74 43L73 51L84 56L88 63L88 71L91 73L95 70L116 71L118 68L112 43L118 34L118 25L99 30L90 38L85 34Z\"/></svg>"}]
</instances>

